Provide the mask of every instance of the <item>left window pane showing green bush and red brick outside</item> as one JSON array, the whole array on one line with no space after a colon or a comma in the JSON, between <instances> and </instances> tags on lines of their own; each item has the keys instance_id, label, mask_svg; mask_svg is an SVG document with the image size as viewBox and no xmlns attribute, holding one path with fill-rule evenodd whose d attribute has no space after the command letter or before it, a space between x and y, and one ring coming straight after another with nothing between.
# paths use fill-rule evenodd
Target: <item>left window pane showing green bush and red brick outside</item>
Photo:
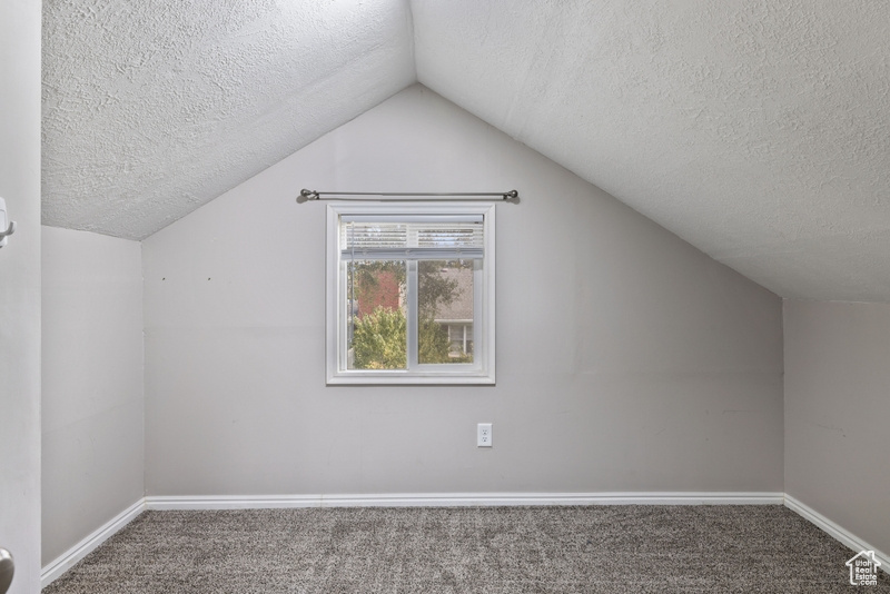
<instances>
[{"instance_id":1,"label":"left window pane showing green bush and red brick outside","mask_svg":"<svg viewBox=\"0 0 890 594\"><path fill-rule=\"evenodd\" d=\"M405 261L346 264L347 369L405 369Z\"/></svg>"}]
</instances>

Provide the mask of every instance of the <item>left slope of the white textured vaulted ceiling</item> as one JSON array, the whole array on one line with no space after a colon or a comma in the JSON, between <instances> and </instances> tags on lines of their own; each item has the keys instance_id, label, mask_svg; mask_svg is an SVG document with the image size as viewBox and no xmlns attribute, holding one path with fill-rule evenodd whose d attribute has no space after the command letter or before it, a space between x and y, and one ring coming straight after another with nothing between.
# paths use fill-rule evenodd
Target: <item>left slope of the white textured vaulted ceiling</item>
<instances>
[{"instance_id":1,"label":"left slope of the white textured vaulted ceiling","mask_svg":"<svg viewBox=\"0 0 890 594\"><path fill-rule=\"evenodd\" d=\"M43 222L145 238L414 82L412 43L403 0L44 1Z\"/></svg>"}]
</instances>

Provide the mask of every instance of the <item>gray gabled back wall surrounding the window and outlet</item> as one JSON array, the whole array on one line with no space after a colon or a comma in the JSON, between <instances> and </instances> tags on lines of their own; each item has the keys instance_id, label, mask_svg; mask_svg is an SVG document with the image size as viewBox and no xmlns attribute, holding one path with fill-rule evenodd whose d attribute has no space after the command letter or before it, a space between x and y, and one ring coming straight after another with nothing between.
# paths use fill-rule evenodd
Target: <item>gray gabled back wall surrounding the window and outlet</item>
<instances>
[{"instance_id":1,"label":"gray gabled back wall surrounding the window and outlet","mask_svg":"<svg viewBox=\"0 0 890 594\"><path fill-rule=\"evenodd\" d=\"M304 187L520 190L497 386L325 387ZM780 299L423 87L142 247L149 495L782 491Z\"/></svg>"}]
</instances>

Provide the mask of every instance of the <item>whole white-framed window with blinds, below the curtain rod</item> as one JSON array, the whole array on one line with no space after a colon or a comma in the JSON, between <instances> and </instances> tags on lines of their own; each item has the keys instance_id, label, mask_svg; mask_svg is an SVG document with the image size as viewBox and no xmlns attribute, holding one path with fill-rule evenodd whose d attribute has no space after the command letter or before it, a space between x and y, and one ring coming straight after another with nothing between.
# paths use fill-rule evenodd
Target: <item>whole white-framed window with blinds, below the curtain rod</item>
<instances>
[{"instance_id":1,"label":"whole white-framed window with blinds, below the curtain rod","mask_svg":"<svg viewBox=\"0 0 890 594\"><path fill-rule=\"evenodd\" d=\"M494 212L328 206L328 384L494 384Z\"/></svg>"}]
</instances>

